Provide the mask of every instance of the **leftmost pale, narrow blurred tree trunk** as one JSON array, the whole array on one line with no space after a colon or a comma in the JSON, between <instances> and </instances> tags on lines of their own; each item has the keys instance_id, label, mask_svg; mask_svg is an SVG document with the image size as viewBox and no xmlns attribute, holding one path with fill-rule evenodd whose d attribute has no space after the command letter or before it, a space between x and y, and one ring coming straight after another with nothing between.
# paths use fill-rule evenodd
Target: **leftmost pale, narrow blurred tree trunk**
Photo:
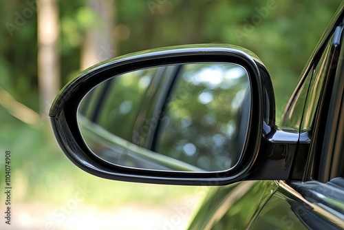
<instances>
[{"instance_id":1,"label":"leftmost pale, narrow blurred tree trunk","mask_svg":"<svg viewBox=\"0 0 344 230\"><path fill-rule=\"evenodd\" d=\"M49 113L50 105L60 89L58 56L58 7L56 0L37 0L38 77L41 114Z\"/></svg>"}]
</instances>

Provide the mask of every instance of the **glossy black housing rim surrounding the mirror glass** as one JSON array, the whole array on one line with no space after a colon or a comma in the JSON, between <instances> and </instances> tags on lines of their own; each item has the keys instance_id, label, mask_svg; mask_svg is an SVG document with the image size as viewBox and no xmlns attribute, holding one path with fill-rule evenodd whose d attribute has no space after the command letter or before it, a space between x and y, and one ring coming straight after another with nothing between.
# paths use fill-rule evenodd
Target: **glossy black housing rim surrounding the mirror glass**
<instances>
[{"instance_id":1,"label":"glossy black housing rim surrounding the mirror glass","mask_svg":"<svg viewBox=\"0 0 344 230\"><path fill-rule=\"evenodd\" d=\"M245 67L250 77L252 107L248 137L244 154L235 167L228 171L209 173L131 169L109 164L89 151L76 124L76 110L83 96L95 85L113 76L145 67L202 62L236 63ZM229 45L184 45L162 48L100 63L80 73L65 86L56 97L50 116L59 145L67 157L81 169L114 180L174 185L226 185L243 180L266 158L266 152L259 151L261 138L265 138L263 133L266 131L262 132L263 129L269 129L271 132L276 129L275 98L266 68L255 54ZM266 124L265 127L263 124ZM286 169L281 170L286 171ZM284 175L288 174L284 173Z\"/></svg>"}]
</instances>

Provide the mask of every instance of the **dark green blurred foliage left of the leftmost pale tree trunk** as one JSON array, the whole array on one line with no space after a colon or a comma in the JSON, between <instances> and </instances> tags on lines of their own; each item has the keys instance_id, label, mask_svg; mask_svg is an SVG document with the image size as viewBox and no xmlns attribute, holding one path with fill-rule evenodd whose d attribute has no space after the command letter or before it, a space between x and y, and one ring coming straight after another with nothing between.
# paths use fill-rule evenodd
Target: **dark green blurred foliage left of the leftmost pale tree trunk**
<instances>
[{"instance_id":1,"label":"dark green blurred foliage left of the leftmost pale tree trunk","mask_svg":"<svg viewBox=\"0 0 344 230\"><path fill-rule=\"evenodd\" d=\"M0 1L0 8L0 86L38 109L35 10L25 1Z\"/></svg>"}]
</instances>

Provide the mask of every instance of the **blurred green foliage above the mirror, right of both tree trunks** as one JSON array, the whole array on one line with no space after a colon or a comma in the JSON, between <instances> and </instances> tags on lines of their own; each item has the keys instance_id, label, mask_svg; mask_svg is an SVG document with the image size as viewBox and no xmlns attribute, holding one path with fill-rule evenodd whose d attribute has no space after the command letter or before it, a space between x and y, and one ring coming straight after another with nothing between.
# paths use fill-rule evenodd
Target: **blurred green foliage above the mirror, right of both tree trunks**
<instances>
[{"instance_id":1,"label":"blurred green foliage above the mirror, right of both tree trunks","mask_svg":"<svg viewBox=\"0 0 344 230\"><path fill-rule=\"evenodd\" d=\"M118 22L130 36L118 46L125 54L187 43L230 43L248 48L272 77L277 121L292 87L340 1L153 1L142 10L118 1ZM130 2L131 5L133 1ZM136 10L133 14L131 10ZM129 14L129 11L130 14ZM129 16L128 16L129 15ZM130 19L128 19L128 17ZM138 42L139 41L139 42Z\"/></svg>"}]
</instances>

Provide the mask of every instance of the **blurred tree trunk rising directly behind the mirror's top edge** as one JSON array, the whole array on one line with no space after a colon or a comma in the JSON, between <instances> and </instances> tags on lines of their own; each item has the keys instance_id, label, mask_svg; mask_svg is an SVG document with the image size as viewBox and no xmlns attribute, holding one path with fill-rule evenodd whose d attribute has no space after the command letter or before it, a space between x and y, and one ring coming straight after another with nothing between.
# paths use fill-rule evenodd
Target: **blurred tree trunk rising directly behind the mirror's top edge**
<instances>
[{"instance_id":1,"label":"blurred tree trunk rising directly behind the mirror's top edge","mask_svg":"<svg viewBox=\"0 0 344 230\"><path fill-rule=\"evenodd\" d=\"M96 13L98 23L86 33L81 51L80 70L116 56L114 1L89 0L89 7Z\"/></svg>"}]
</instances>

